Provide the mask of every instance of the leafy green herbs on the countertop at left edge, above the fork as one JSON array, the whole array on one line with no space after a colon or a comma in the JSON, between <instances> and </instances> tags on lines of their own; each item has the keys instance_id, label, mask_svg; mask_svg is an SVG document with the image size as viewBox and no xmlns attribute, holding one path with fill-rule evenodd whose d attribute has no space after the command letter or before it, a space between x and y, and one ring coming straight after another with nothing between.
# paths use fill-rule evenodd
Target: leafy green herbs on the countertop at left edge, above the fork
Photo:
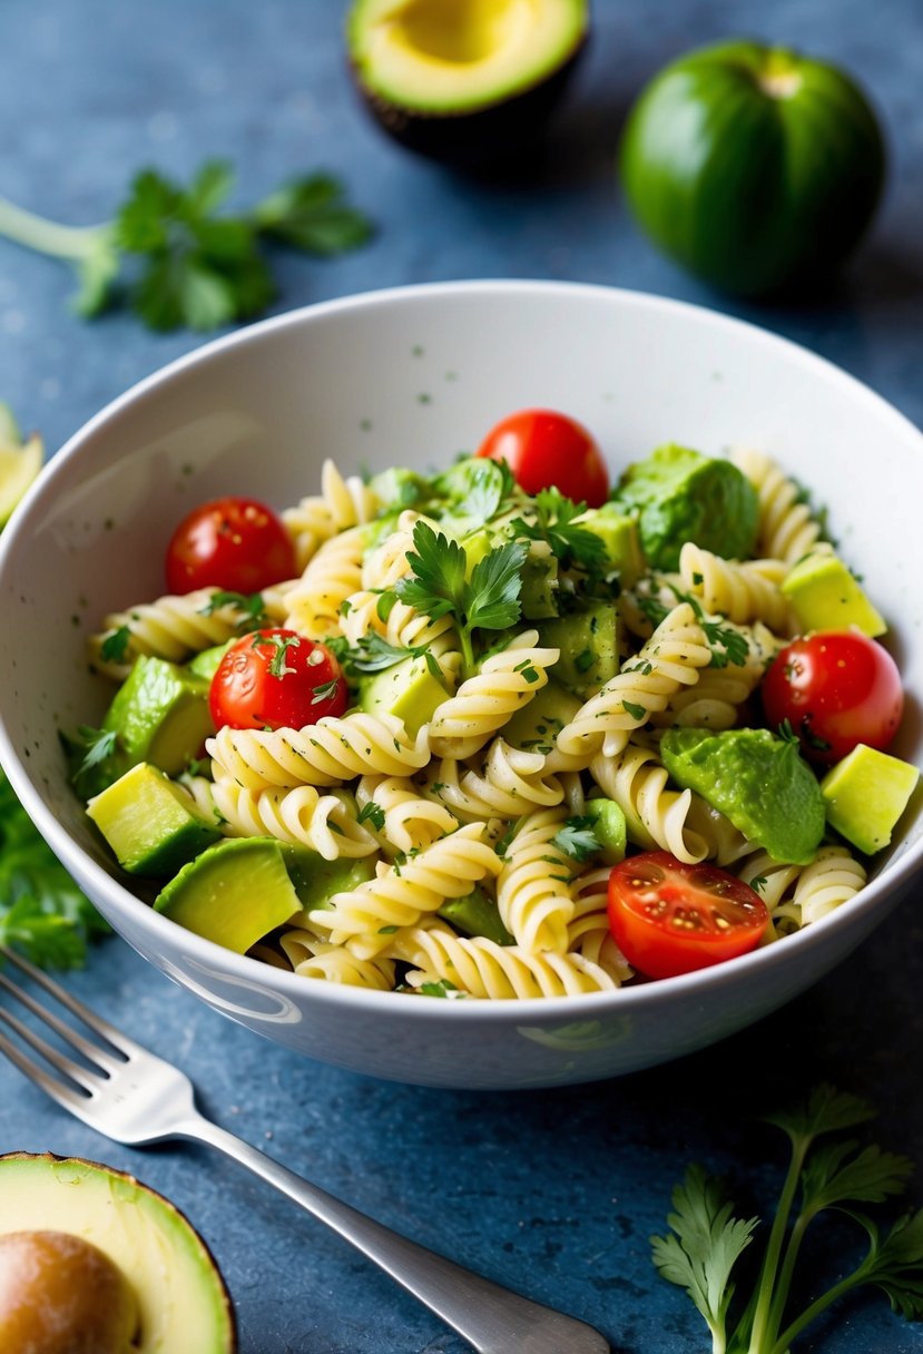
<instances>
[{"instance_id":1,"label":"leafy green herbs on the countertop at left edge, above the fork","mask_svg":"<svg viewBox=\"0 0 923 1354\"><path fill-rule=\"evenodd\" d=\"M0 772L0 944L45 968L76 968L107 932Z\"/></svg>"}]
</instances>

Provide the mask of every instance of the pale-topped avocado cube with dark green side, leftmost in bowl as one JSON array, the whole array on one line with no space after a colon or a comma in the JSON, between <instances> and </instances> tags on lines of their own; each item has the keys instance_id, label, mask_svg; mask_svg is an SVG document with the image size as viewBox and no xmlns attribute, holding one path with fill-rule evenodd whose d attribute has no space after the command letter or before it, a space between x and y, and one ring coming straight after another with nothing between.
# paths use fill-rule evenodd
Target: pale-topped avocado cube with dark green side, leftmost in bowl
<instances>
[{"instance_id":1,"label":"pale-topped avocado cube with dark green side, leftmost in bowl","mask_svg":"<svg viewBox=\"0 0 923 1354\"><path fill-rule=\"evenodd\" d=\"M95 795L87 814L130 875L169 879L221 837L218 823L206 822L188 795L149 762Z\"/></svg>"}]
</instances>

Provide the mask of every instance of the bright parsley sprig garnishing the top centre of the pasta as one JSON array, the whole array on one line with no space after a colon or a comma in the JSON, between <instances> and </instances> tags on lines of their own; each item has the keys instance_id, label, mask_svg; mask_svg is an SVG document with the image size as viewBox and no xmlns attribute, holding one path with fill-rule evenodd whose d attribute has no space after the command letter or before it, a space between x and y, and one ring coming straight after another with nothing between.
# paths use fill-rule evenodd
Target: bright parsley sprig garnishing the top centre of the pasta
<instances>
[{"instance_id":1,"label":"bright parsley sprig garnishing the top centre of the pasta","mask_svg":"<svg viewBox=\"0 0 923 1354\"><path fill-rule=\"evenodd\" d=\"M471 570L464 547L433 531L426 521L413 529L413 550L407 551L410 573L398 580L394 592L432 620L452 615L466 670L475 666L474 631L508 630L520 619L520 590L526 547L521 540L491 550Z\"/></svg>"}]
</instances>

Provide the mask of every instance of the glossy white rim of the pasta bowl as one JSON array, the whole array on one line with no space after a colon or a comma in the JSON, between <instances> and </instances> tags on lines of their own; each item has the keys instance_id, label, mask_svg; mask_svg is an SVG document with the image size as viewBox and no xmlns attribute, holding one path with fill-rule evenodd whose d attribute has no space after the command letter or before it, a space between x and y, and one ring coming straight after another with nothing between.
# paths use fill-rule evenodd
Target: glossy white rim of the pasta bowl
<instances>
[{"instance_id":1,"label":"glossy white rim of the pasta bowl","mask_svg":"<svg viewBox=\"0 0 923 1354\"><path fill-rule=\"evenodd\" d=\"M179 375L199 366L219 362L227 351L245 348L249 344L258 344L267 334L275 334L287 328L299 328L305 324L310 325L322 322L328 315L345 314L351 310L359 309L387 307L394 303L415 302L418 299L432 299L438 302L441 299L451 301L457 297L479 294L491 295L498 299L548 294L558 298L568 295L594 302L608 301L628 310L640 310L652 314L659 313L674 317L679 315L689 322L704 325L705 328L738 333L742 338L746 338L748 344L757 344L757 347L762 345L763 348L786 353L794 362L807 366L808 370L815 372L819 378L843 386L850 391L853 398L870 403L877 416L882 417L885 422L891 422L900 436L909 437L911 441L916 441L920 454L923 454L923 432L920 432L920 429L904 413L901 413L895 405L874 391L865 382L845 371L842 367L838 367L830 359L812 352L809 348L805 348L794 340L777 334L773 330L751 321L712 310L704 305L677 301L670 297L662 297L652 292L606 286L602 283L563 282L551 279L482 278L453 282L410 283L397 287L382 287L355 292L345 297L336 297L329 301L314 302L283 311L277 315L271 315L265 320L245 325L240 329L231 330L230 333L202 343L189 352L171 360L165 366L131 385L122 394L116 395L107 405L104 405L96 414L88 418L64 443L64 445L57 452L53 452L46 460L38 478L15 508L7 527L3 532L0 532L0 578L3 578L9 556L12 556L18 548L19 536L26 529L24 524L30 520L37 508L53 497L57 479L66 473L69 462L80 454L81 448L93 439L99 429L106 427L123 409L138 402L143 402L160 387L169 386L169 383ZM7 730L1 708L0 766L5 770L9 784L23 804L26 812L32 819L55 856L58 856L58 858L64 862L65 868L68 868L69 857L76 854L80 861L80 869L92 880L93 886L106 898L107 911L111 911L115 917L118 917L126 907L145 909L148 917L141 921L139 925L142 929L153 927L152 936L154 942L157 941L161 927L168 927L169 934L172 934L176 941L177 923L172 922L166 917L162 917L160 913L154 913L148 903L131 892L127 884L110 875L70 837L54 814L46 807L26 770L24 762L12 746L12 739ZM763 971L771 971L778 964L785 963L785 955L792 953L793 946L797 948L797 952L811 952L816 946L823 946L827 932L831 929L840 929L845 915L855 917L858 914L865 914L886 906L891 900L891 895L897 895L899 891L909 883L911 876L918 869L920 857L923 857L923 837L914 842L899 857L899 860L893 862L893 865L886 867L884 877L877 876L862 890L858 898L850 903L849 914L836 909L826 917L819 918L816 922L812 922L811 926L804 930L784 937L781 945L778 942L771 942L752 951L748 955L739 956L735 960L702 968L692 974L679 975L671 979L660 979L658 982L643 982L636 987L620 987L608 992L583 992L570 997L531 997L508 1001L448 1001L445 1003L414 1003L401 1001L401 1003L397 1005L397 998L403 998L405 994L374 991L342 983L315 982L306 986L306 980L299 978L295 972L276 968L275 965L267 964L263 960L253 959L248 955L238 955L234 951L225 949L217 942L204 940L192 932L185 932L181 949L184 952L184 957L195 963L196 967L207 968L211 976L221 978L231 984L238 982L241 986L253 986L253 980L261 975L264 983L258 986L268 986L280 994L292 998L298 995L303 998L307 992L311 992L313 997L321 1002L330 1002L334 1006L351 1007L357 1013L367 1011L368 1014L374 1014L395 1009L409 1011L417 1009L420 1005L421 1010L429 1011L429 1017L426 1018L447 1018L452 1022L457 1020L476 1021L489 1018L491 1024L497 1021L506 1022L508 1020L513 1024L522 1024L541 1016L543 1025L568 1025L575 1020L587 1020L594 1016L628 1014L633 1010L640 1011L651 1003L655 1006L671 1006L675 1002L685 1005L688 1001L694 999L694 997L702 990L713 992L723 987L736 987L742 982L746 983L748 975L751 974L755 975L762 974ZM118 927L114 926L114 930L116 934L120 934ZM164 932L164 934L166 934L166 932ZM157 959L162 959L165 953L169 953L169 951L175 948L175 941L162 949L157 946L154 949L154 957L149 961L157 965ZM145 955L143 957L148 956ZM218 971L215 971L217 968ZM817 972L820 975L821 972L826 972L826 968L819 967ZM451 1016L445 1011L445 1006L453 1007ZM457 1007L461 1007L464 1014L461 1014Z\"/></svg>"}]
</instances>

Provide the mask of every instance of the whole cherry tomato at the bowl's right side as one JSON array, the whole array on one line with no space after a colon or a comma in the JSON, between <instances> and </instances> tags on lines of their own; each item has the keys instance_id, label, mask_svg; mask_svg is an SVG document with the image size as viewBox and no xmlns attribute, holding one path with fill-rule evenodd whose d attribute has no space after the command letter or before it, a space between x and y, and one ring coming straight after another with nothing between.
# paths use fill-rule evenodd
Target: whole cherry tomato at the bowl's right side
<instances>
[{"instance_id":1,"label":"whole cherry tomato at the bowl's right side","mask_svg":"<svg viewBox=\"0 0 923 1354\"><path fill-rule=\"evenodd\" d=\"M785 720L811 761L830 765L857 743L886 747L904 709L897 663L858 630L794 639L773 659L762 684L770 728Z\"/></svg>"}]
</instances>

